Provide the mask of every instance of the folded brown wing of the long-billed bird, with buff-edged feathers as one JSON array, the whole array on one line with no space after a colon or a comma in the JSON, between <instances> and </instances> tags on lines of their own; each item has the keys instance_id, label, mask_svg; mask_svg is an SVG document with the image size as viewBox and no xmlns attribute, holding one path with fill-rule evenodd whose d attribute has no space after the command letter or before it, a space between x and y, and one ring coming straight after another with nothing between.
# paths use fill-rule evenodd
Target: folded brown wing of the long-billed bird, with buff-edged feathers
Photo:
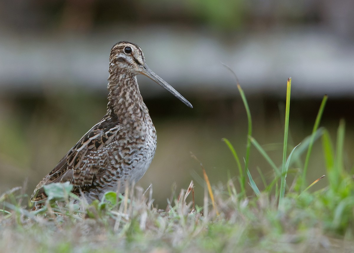
<instances>
[{"instance_id":1,"label":"folded brown wing of the long-billed bird, with buff-edged feathers","mask_svg":"<svg viewBox=\"0 0 354 253\"><path fill-rule=\"evenodd\" d=\"M56 167L39 182L31 200L45 201L47 196L43 186L53 182L68 181L74 186L74 192L92 187L98 171L107 167L109 144L114 140L120 127L116 118L103 118L82 136Z\"/></svg>"}]
</instances>

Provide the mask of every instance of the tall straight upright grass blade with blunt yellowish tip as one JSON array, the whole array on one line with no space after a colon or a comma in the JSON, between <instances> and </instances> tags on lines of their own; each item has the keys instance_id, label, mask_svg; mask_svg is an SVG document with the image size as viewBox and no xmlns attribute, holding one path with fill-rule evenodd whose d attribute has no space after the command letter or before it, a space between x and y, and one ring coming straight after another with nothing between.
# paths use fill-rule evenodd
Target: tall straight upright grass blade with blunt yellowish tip
<instances>
[{"instance_id":1,"label":"tall straight upright grass blade with blunt yellowish tip","mask_svg":"<svg viewBox=\"0 0 354 253\"><path fill-rule=\"evenodd\" d=\"M290 115L290 91L291 91L291 77L287 80L286 85L286 106L285 106L285 125L284 125L284 144L283 144L283 162L281 169L281 181L280 181L280 189L285 188L285 178L286 178L286 149L287 149L287 140L289 135L289 115ZM279 203L282 200L281 194L279 195Z\"/></svg>"}]
</instances>

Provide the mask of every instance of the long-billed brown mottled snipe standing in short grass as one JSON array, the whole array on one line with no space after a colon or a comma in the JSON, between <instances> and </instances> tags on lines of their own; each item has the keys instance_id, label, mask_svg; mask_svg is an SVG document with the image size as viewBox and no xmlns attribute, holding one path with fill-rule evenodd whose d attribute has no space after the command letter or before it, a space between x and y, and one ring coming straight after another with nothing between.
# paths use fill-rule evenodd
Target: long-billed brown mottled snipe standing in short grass
<instances>
[{"instance_id":1,"label":"long-billed brown mottled snipe standing in short grass","mask_svg":"<svg viewBox=\"0 0 354 253\"><path fill-rule=\"evenodd\" d=\"M146 64L141 48L128 41L115 44L109 57L107 112L64 155L36 186L33 210L47 195L44 186L69 182L72 192L87 203L101 200L107 191L124 191L145 174L156 150L156 130L140 94L136 76L143 74L193 108L171 85Z\"/></svg>"}]
</instances>

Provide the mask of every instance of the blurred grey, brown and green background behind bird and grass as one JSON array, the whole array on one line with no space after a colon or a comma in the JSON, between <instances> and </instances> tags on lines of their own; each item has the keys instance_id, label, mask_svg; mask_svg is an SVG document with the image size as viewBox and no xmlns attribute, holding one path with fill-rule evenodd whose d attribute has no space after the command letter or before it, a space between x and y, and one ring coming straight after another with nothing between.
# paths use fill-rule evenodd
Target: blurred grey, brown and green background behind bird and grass
<instances>
[{"instance_id":1,"label":"blurred grey, brown and green background behind bird and grass","mask_svg":"<svg viewBox=\"0 0 354 253\"><path fill-rule=\"evenodd\" d=\"M227 146L242 157L247 119L233 74L245 90L253 136L281 163L286 80L292 77L290 145L312 131L324 94L322 126L347 123L346 166L353 164L353 1L0 1L0 192L34 187L104 115L110 48L128 40L150 68L194 106L186 107L138 77L158 133L153 163L139 185L153 184L162 208L195 181L202 203L203 163L212 184L237 175ZM261 182L270 167L252 148L250 170ZM325 173L321 145L308 182ZM291 182L291 174L288 176ZM316 187L327 184L321 180Z\"/></svg>"}]
</instances>

